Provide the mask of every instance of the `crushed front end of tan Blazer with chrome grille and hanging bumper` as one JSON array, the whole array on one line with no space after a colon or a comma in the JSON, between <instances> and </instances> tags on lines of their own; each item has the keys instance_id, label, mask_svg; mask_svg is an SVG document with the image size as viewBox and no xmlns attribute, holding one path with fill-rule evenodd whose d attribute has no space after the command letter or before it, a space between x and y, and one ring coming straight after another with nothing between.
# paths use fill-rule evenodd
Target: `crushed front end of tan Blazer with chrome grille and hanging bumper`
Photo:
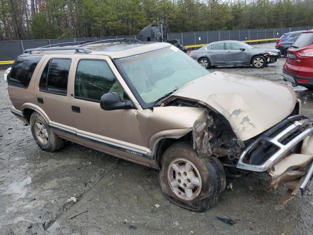
<instances>
[{"instance_id":1,"label":"crushed front end of tan Blazer with chrome grille and hanging bumper","mask_svg":"<svg viewBox=\"0 0 313 235\"><path fill-rule=\"evenodd\" d=\"M300 190L303 195L313 177L313 120L303 115L284 119L241 153L237 168L264 172L272 178L270 188L288 188L279 201L284 206Z\"/></svg>"}]
</instances>

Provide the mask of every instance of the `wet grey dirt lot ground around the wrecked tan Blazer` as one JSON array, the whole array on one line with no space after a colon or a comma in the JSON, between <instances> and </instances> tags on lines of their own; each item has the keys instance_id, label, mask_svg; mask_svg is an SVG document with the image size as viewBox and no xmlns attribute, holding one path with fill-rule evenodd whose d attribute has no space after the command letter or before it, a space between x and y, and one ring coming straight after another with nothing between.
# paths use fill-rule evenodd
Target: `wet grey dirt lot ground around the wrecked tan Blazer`
<instances>
[{"instance_id":1,"label":"wet grey dirt lot ground around the wrecked tan Blazer","mask_svg":"<svg viewBox=\"0 0 313 235\"><path fill-rule=\"evenodd\" d=\"M272 45L266 45L271 47ZM282 81L285 59L264 69L214 68ZM7 83L0 71L0 234L313 234L313 185L283 209L275 205L284 188L268 191L262 175L227 179L232 190L204 213L181 209L166 200L157 171L101 152L68 144L42 151L11 112ZM313 118L313 91L293 88L303 113ZM67 202L71 197L77 202ZM155 205L159 204L157 208ZM77 216L75 216L77 215ZM237 223L215 219L227 215Z\"/></svg>"}]
</instances>

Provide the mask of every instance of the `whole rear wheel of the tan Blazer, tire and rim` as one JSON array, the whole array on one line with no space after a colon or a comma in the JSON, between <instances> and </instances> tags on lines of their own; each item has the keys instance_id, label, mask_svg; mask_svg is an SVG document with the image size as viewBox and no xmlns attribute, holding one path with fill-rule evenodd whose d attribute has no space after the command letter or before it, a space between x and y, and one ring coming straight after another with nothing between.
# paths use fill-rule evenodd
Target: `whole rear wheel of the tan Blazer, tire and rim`
<instances>
[{"instance_id":1,"label":"whole rear wheel of the tan Blazer, tire and rim","mask_svg":"<svg viewBox=\"0 0 313 235\"><path fill-rule=\"evenodd\" d=\"M30 129L38 146L48 152L53 152L63 147L64 140L54 134L45 118L37 112L30 116Z\"/></svg>"}]
</instances>

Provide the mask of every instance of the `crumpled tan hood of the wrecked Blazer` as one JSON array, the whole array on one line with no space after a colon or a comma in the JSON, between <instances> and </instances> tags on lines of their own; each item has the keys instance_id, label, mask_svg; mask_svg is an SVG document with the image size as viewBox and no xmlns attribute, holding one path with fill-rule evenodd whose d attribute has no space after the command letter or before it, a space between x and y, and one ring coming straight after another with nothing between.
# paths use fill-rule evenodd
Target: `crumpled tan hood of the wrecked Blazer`
<instances>
[{"instance_id":1,"label":"crumpled tan hood of the wrecked Blazer","mask_svg":"<svg viewBox=\"0 0 313 235\"><path fill-rule=\"evenodd\" d=\"M289 87L218 71L185 84L170 97L198 101L220 113L241 141L289 116L296 103L296 94Z\"/></svg>"}]
</instances>

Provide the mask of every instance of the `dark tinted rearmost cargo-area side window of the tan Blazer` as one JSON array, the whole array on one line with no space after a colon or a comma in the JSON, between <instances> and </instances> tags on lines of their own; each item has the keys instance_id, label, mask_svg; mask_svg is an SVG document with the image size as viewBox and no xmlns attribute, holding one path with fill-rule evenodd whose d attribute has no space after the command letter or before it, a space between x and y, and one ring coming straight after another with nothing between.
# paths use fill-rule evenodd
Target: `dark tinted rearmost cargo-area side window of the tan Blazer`
<instances>
[{"instance_id":1,"label":"dark tinted rearmost cargo-area side window of the tan Blazer","mask_svg":"<svg viewBox=\"0 0 313 235\"><path fill-rule=\"evenodd\" d=\"M8 84L10 86L27 88L33 72L43 56L19 56L11 70Z\"/></svg>"}]
</instances>

